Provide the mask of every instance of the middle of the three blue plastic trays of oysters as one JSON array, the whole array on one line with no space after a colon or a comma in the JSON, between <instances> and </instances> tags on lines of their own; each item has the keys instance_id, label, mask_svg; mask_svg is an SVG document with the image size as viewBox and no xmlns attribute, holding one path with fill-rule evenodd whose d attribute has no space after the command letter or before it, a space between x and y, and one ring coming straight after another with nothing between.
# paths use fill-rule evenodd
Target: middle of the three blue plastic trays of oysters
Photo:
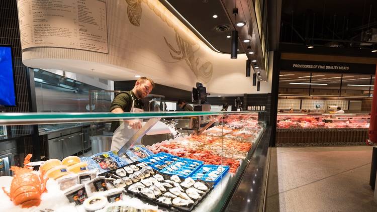
<instances>
[{"instance_id":1,"label":"middle of the three blue plastic trays of oysters","mask_svg":"<svg viewBox=\"0 0 377 212\"><path fill-rule=\"evenodd\" d=\"M203 161L193 160L189 158L181 158L160 172L169 175L178 175L182 178L187 178L193 175L200 167L203 166Z\"/></svg>"}]
</instances>

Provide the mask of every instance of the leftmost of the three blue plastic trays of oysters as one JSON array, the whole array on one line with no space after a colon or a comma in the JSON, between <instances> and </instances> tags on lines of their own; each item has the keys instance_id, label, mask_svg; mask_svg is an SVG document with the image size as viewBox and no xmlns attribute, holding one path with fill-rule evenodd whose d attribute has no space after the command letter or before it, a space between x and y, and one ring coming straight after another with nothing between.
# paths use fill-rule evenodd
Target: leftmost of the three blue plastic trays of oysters
<instances>
[{"instance_id":1,"label":"leftmost of the three blue plastic trays of oysters","mask_svg":"<svg viewBox=\"0 0 377 212\"><path fill-rule=\"evenodd\" d=\"M148 166L154 168L155 170L162 170L179 159L180 157L177 157L175 155L171 155L165 152L159 152L140 160L140 162L147 163Z\"/></svg>"}]
</instances>

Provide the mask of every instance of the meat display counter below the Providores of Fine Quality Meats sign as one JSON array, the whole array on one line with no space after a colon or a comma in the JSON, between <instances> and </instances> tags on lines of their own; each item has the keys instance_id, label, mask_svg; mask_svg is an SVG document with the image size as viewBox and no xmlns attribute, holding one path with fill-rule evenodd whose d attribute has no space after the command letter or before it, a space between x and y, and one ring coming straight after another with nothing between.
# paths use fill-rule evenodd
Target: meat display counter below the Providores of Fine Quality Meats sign
<instances>
[{"instance_id":1,"label":"meat display counter below the Providores of Fine Quality Meats sign","mask_svg":"<svg viewBox=\"0 0 377 212\"><path fill-rule=\"evenodd\" d=\"M276 146L360 145L367 114L277 114Z\"/></svg>"}]
</instances>

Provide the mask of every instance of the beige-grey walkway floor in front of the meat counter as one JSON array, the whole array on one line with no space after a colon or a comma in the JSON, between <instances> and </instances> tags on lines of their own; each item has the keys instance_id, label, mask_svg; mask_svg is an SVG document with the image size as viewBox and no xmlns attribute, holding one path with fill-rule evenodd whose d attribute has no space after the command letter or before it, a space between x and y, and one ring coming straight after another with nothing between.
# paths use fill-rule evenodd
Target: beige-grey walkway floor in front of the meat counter
<instances>
[{"instance_id":1,"label":"beige-grey walkway floor in front of the meat counter","mask_svg":"<svg viewBox=\"0 0 377 212\"><path fill-rule=\"evenodd\" d=\"M369 146L273 148L266 211L377 211L371 153Z\"/></svg>"}]
</instances>

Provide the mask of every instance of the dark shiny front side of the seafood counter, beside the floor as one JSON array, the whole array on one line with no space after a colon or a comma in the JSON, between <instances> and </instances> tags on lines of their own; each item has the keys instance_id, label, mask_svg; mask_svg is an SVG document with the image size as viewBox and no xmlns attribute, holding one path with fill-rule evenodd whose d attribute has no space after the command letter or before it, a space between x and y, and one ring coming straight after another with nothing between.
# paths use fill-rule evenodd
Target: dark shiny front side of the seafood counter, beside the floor
<instances>
[{"instance_id":1,"label":"dark shiny front side of the seafood counter, beside the floor","mask_svg":"<svg viewBox=\"0 0 377 212\"><path fill-rule=\"evenodd\" d=\"M251 156L239 184L223 211L263 211L268 169L268 143L271 127L267 127L262 140Z\"/></svg>"}]
</instances>

